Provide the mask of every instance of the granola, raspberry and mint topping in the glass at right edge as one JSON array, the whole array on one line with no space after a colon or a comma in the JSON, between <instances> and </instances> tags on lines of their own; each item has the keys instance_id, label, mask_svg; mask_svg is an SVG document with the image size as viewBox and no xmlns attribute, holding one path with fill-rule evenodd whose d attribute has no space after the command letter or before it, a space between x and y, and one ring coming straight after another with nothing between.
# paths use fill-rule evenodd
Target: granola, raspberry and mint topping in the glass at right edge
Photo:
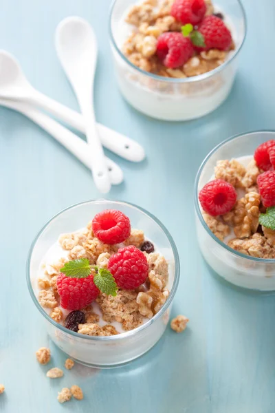
<instances>
[{"instance_id":1,"label":"granola, raspberry and mint topping in the glass at right edge","mask_svg":"<svg viewBox=\"0 0 275 413\"><path fill-rule=\"evenodd\" d=\"M254 156L218 160L199 192L210 231L234 251L275 259L275 140L255 148ZM270 268L270 275L274 267ZM268 275L268 274L267 274Z\"/></svg>"}]
</instances>

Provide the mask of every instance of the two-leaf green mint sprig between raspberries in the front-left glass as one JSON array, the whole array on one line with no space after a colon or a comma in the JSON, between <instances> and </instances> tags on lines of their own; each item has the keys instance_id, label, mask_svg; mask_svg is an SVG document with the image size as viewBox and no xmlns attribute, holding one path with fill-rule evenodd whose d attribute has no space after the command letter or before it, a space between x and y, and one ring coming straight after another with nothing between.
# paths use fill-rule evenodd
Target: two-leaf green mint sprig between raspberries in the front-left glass
<instances>
[{"instance_id":1,"label":"two-leaf green mint sprig between raspberries in the front-left glass","mask_svg":"<svg viewBox=\"0 0 275 413\"><path fill-rule=\"evenodd\" d=\"M66 262L63 268L61 268L61 273L69 278L87 278L91 275L93 269L96 271L96 274L94 275L94 284L102 293L115 297L117 295L116 292L118 286L113 275L111 275L110 271L104 268L91 266L87 258Z\"/></svg>"}]
</instances>

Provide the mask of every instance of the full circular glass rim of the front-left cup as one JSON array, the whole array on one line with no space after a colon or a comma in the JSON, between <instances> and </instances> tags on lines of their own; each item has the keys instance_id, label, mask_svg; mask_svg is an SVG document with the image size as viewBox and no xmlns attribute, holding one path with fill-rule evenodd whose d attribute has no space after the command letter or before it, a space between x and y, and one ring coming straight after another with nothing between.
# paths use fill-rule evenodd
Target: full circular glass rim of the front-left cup
<instances>
[{"instance_id":1,"label":"full circular glass rim of the front-left cup","mask_svg":"<svg viewBox=\"0 0 275 413\"><path fill-rule=\"evenodd\" d=\"M151 220L153 220L160 227L160 229L162 229L162 231L166 235L166 237L168 239L168 242L170 243L170 246L172 248L173 256L175 258L175 278L174 278L173 286L170 290L168 299L166 300L166 302L164 303L162 308L159 310L159 312L157 314L155 314L151 319L148 319L148 321L146 321L146 323L142 324L141 326L139 326L137 328L134 328L133 330L129 330L129 331L126 331L126 332L121 332L118 335L113 335L113 336L109 336L109 337L96 337L96 336L82 335L82 334L79 334L78 332L74 332L72 330L69 330L69 329L65 328L61 324L58 324L56 321L54 321L54 319L52 319L50 317L50 315L48 315L46 313L46 311L43 309L41 304L39 304L39 300L37 299L36 295L34 294L34 290L32 288L32 282L31 282L31 279L30 279L30 262L32 260L32 253L33 253L33 250L34 250L34 246L36 245L36 242L39 240L39 237L43 234L43 232L45 231L47 226L49 226L52 223L53 220L58 218L60 215L62 215L65 211L68 211L69 209L80 207L80 205L94 203L94 202L100 202L100 201L101 202L104 201L104 202L107 202L107 203L112 202L112 203L115 203L115 204L123 204L123 205L126 205L127 207L132 207L134 209L137 209L138 211L140 211L140 212L144 213L145 215L147 215L148 218L151 218ZM27 258L27 262L26 262L26 277L27 277L28 290L29 290L30 296L32 297L32 301L34 301L34 304L35 304L36 308L39 309L39 311L43 315L43 317L45 317L45 319L47 321L50 321L50 323L54 327L58 328L59 330L62 330L63 332L65 332L69 335L77 337L78 339L87 339L87 340L91 340L91 341L93 341L93 340L94 341L119 341L119 340L124 339L126 337L131 337L131 336L137 334L138 332L140 332L141 330L144 330L144 328L147 328L148 326L151 326L151 324L153 324L153 322L155 320L157 320L159 317L161 317L165 313L167 308L172 303L173 298L175 297L175 293L177 291L177 287L179 285L179 268L180 268L179 254L177 252L177 246L175 245L173 237L172 237L172 235L170 235L168 229L166 229L164 224L162 224L162 222L159 221L159 219L156 218L155 215L149 213L148 211L146 211L146 209L143 209L142 207L138 207L136 204L132 204L131 202L118 201L118 200L97 199L97 200L87 200L87 201L83 201L83 202L77 202L76 204L70 205L69 207L62 209L61 211L56 213L52 218L50 218L50 220L47 220L47 222L43 225L41 230L34 237L34 240L32 241L32 244L30 246L30 250L29 250L28 258Z\"/></svg>"}]
</instances>

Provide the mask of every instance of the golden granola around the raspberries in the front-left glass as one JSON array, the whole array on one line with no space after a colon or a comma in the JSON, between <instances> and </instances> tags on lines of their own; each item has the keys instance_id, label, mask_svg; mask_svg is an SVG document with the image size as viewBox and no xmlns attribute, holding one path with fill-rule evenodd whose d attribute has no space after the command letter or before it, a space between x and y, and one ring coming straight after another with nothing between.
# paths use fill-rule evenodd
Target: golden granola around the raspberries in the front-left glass
<instances>
[{"instance_id":1,"label":"golden granola around the raspberries in the front-left glass","mask_svg":"<svg viewBox=\"0 0 275 413\"><path fill-rule=\"evenodd\" d=\"M144 241L143 231L131 229L131 235L124 241L124 246L133 245L141 248ZM58 306L59 296L56 287L56 279L61 268L69 260L87 258L90 264L96 264L98 268L106 269L111 255L118 251L119 246L103 244L94 237L91 224L88 224L83 231L61 235L58 242L63 248L64 255L59 261L44 266L47 278L39 279L38 284L41 288L39 302L44 308L50 308L50 317L54 321L63 323L67 313ZM78 324L80 334L89 336L117 335L119 334L118 330L111 325L113 321L120 323L122 330L133 330L144 322L144 317L150 319L162 308L169 295L166 287L168 264L159 253L144 252L144 255L149 267L146 282L136 290L119 289L115 297L100 293L96 299L96 306L89 305L82 309L85 323ZM107 324L102 325L102 320Z\"/></svg>"}]
</instances>

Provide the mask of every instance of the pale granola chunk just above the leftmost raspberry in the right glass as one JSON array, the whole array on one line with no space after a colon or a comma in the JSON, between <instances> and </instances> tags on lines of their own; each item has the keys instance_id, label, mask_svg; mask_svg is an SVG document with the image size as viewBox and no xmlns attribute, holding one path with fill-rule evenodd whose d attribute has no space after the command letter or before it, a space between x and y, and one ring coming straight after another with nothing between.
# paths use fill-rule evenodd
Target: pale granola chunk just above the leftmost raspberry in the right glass
<instances>
[{"instance_id":1,"label":"pale granola chunk just above the leftmost raspberry in the right glass","mask_svg":"<svg viewBox=\"0 0 275 413\"><path fill-rule=\"evenodd\" d=\"M235 188L243 187L243 177L246 169L237 160L218 160L214 168L215 178L229 182Z\"/></svg>"}]
</instances>

